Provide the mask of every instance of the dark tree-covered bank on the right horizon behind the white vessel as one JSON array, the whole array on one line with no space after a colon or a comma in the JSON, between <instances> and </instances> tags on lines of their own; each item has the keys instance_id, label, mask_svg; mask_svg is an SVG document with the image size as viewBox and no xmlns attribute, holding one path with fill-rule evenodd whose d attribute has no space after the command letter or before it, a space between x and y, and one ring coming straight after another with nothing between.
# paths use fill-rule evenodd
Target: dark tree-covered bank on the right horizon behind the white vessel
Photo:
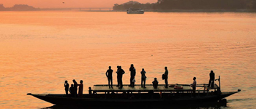
<instances>
[{"instance_id":1,"label":"dark tree-covered bank on the right horizon behind the white vessel","mask_svg":"<svg viewBox=\"0 0 256 109\"><path fill-rule=\"evenodd\" d=\"M158 0L156 3L140 4L129 1L124 4L114 4L114 11L125 11L128 8L151 11L165 10L256 10L255 0Z\"/></svg>"}]
</instances>

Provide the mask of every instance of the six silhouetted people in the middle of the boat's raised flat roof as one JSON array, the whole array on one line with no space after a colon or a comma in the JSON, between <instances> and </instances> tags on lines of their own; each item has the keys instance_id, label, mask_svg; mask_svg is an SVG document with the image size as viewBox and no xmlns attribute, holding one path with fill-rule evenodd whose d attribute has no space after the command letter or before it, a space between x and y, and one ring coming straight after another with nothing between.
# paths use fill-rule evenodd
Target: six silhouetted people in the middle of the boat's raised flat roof
<instances>
[{"instance_id":1,"label":"six silhouetted people in the middle of the boat's raised flat roof","mask_svg":"<svg viewBox=\"0 0 256 109\"><path fill-rule=\"evenodd\" d=\"M131 67L129 68L130 71L130 79L129 79L129 86L130 87L134 87L135 86L135 76L136 76L136 69L134 67L134 65L132 64ZM117 70L116 70L116 74L117 74L117 87L119 89L123 88L123 74L124 74L124 70L121 68L121 66L117 66ZM106 76L108 78L108 86L109 89L113 89L113 70L111 69L111 66L108 67L108 70L106 71ZM146 88L146 71L144 70L144 68L142 68L142 70L140 71L141 74L141 87L142 88ZM165 79L165 88L168 87L168 70L167 67L165 67L165 73L163 74L163 79ZM158 86L158 81L157 78L154 78L154 81L152 82L153 86L155 89L157 89Z\"/></svg>"}]
</instances>

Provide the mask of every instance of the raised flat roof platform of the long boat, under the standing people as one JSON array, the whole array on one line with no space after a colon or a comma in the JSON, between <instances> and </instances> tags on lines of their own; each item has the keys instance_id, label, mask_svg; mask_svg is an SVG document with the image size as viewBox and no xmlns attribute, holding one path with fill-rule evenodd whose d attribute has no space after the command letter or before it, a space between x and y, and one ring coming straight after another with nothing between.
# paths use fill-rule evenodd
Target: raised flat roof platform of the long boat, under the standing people
<instances>
[{"instance_id":1,"label":"raised flat roof platform of the long boat, under the standing people","mask_svg":"<svg viewBox=\"0 0 256 109\"><path fill-rule=\"evenodd\" d=\"M183 85L178 85L183 86ZM94 85L93 90L95 92L148 92L148 91L157 91L157 92L190 92L192 88L190 86L183 86L183 89L174 89L174 87L165 88L165 84L158 85L157 89L154 89L152 85L146 85L146 88L141 87L140 85L135 85L135 87L129 87L124 85L122 89L118 89L116 85L113 85L113 89L109 89L108 85Z\"/></svg>"}]
</instances>

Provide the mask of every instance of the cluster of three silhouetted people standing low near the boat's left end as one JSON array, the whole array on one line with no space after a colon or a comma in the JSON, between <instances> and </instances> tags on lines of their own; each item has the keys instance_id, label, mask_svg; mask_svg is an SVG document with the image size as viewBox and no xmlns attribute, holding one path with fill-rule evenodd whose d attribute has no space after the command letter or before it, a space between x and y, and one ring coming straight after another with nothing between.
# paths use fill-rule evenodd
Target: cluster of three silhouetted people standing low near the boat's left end
<instances>
[{"instance_id":1,"label":"cluster of three silhouetted people standing low near the boat's left end","mask_svg":"<svg viewBox=\"0 0 256 109\"><path fill-rule=\"evenodd\" d=\"M65 81L64 87L66 95L68 95L70 92L72 97L83 97L83 80L80 80L80 84L78 84L78 82L73 79L73 83L74 84L71 84L71 86L69 87L67 80Z\"/></svg>"}]
</instances>

